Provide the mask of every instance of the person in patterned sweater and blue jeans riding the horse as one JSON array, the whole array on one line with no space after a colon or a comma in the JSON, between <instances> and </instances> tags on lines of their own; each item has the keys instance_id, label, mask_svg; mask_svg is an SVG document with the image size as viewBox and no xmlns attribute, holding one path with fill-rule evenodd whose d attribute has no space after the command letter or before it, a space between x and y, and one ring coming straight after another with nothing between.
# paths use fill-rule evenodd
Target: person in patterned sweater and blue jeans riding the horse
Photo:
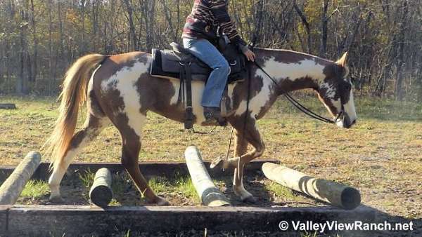
<instances>
[{"instance_id":1,"label":"person in patterned sweater and blue jeans riding the horse","mask_svg":"<svg viewBox=\"0 0 422 237\"><path fill-rule=\"evenodd\" d=\"M205 123L222 121L219 107L230 74L229 63L210 43L217 39L217 27L219 32L225 34L248 60L255 60L255 54L241 39L227 13L228 2L229 0L195 0L192 12L186 18L182 34L184 47L190 49L193 55L212 69L201 102L204 107Z\"/></svg>"}]
</instances>

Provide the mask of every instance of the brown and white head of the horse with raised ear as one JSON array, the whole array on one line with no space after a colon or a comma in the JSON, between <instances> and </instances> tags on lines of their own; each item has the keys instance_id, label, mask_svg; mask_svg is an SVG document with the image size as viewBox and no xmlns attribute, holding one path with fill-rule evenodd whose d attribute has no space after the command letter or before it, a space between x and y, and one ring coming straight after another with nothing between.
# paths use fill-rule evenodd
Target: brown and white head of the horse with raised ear
<instances>
[{"instance_id":1,"label":"brown and white head of the horse with raised ear","mask_svg":"<svg viewBox=\"0 0 422 237\"><path fill-rule=\"evenodd\" d=\"M319 100L324 103L333 118L338 118L337 126L350 128L356 123L352 83L347 78L349 69L346 66L347 53L333 65L326 67L326 78L318 89Z\"/></svg>"}]
</instances>

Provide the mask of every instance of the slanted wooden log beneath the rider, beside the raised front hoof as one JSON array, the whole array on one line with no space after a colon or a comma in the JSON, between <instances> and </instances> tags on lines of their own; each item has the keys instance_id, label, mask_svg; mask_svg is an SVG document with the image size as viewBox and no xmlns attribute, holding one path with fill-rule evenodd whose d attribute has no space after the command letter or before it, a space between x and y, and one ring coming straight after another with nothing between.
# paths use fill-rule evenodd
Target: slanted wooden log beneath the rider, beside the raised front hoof
<instances>
[{"instance_id":1,"label":"slanted wooden log beneath the rider, beside the raised front hoof","mask_svg":"<svg viewBox=\"0 0 422 237\"><path fill-rule=\"evenodd\" d=\"M186 148L185 158L193 186L202 203L210 207L230 205L226 196L212 182L198 149L194 146Z\"/></svg>"}]
</instances>

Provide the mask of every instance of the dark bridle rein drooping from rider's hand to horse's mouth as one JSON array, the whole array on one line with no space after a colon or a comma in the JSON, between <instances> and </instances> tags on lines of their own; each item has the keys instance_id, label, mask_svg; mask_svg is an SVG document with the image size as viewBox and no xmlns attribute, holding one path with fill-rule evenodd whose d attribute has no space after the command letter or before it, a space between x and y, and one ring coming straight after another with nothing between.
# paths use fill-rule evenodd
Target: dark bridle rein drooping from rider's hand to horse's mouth
<instances>
[{"instance_id":1,"label":"dark bridle rein drooping from rider's hand to horse's mouth","mask_svg":"<svg viewBox=\"0 0 422 237\"><path fill-rule=\"evenodd\" d=\"M276 87L281 91L283 96L286 97L286 99L291 104L293 104L293 106L295 106L297 109L302 111L302 113L306 114L307 116L310 116L311 118L314 118L314 119L319 120L319 121L324 122L324 123L337 123L338 119L340 119L340 117L343 116L344 111L345 111L344 103L343 103L343 96L340 95L341 110L338 113L337 118L335 118L334 120L332 120L330 118L326 118L326 117L321 116L319 114L315 114L312 110L308 109L303 104L300 104L300 102L298 102L298 100L295 100L295 98L293 98L288 92L286 92L286 90L283 90L283 88L281 88L281 86L279 86L279 83L277 83L277 81L272 76L270 76L261 67L261 65L259 65L256 61L255 61L255 66L257 66L258 69L260 69L262 72L264 72L264 74L267 75L269 79L271 79L271 81L274 83L274 85L276 85ZM342 85L340 85L340 86L342 86ZM340 90L341 90L341 88L340 88Z\"/></svg>"}]
</instances>

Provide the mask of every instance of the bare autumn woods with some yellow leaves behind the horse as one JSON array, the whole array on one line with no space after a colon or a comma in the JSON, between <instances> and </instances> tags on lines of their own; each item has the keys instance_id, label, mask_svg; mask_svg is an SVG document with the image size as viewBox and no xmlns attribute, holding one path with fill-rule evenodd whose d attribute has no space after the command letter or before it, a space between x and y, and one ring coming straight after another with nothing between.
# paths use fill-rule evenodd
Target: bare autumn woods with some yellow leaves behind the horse
<instances>
[{"instance_id":1,"label":"bare autumn woods with some yellow leaves behind the horse","mask_svg":"<svg viewBox=\"0 0 422 237\"><path fill-rule=\"evenodd\" d=\"M0 93L55 95L87 53L168 48L193 0L2 0ZM422 0L231 0L244 39L336 59L360 93L422 101Z\"/></svg>"}]
</instances>

